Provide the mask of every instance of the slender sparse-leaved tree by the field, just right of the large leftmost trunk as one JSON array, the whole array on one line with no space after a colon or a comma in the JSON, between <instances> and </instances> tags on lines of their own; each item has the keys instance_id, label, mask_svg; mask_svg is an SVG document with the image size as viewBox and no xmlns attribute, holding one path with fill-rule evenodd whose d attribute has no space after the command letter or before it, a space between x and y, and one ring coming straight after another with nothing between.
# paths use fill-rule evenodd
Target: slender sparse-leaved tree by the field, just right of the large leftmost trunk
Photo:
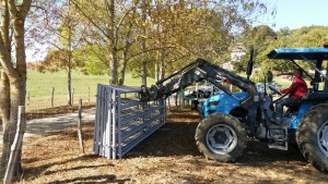
<instances>
[{"instance_id":1,"label":"slender sparse-leaved tree by the field, just right of the large leftmost trunk","mask_svg":"<svg viewBox=\"0 0 328 184\"><path fill-rule=\"evenodd\" d=\"M73 57L73 51L81 47L85 29L79 24L79 16L71 0L37 0L35 3L35 7L38 9L32 14L32 21L28 25L28 35L31 37L28 37L27 41L34 46L34 50L37 50L35 46L43 46L43 49L37 51L37 53L47 54L48 57L45 59L54 59L54 63L56 63L52 64L51 61L39 62L38 70L43 72L67 71L67 103L70 106L72 105L71 71L74 66L82 64ZM39 32L40 29L43 32ZM59 60L56 57L51 57L55 50L58 50L60 57L66 58ZM58 62L62 63L59 64Z\"/></svg>"}]
</instances>

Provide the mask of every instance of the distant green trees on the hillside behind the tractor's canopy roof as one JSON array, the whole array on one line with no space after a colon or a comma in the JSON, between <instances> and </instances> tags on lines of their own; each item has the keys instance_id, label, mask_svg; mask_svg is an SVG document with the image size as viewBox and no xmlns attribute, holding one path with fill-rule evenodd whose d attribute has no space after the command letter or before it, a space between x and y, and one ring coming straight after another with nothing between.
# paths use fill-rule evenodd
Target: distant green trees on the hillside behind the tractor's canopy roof
<instances>
[{"instance_id":1,"label":"distant green trees on the hillside behind the tractor's canopy roof","mask_svg":"<svg viewBox=\"0 0 328 184\"><path fill-rule=\"evenodd\" d=\"M323 47L323 42L328 40L327 26L309 26L298 29L281 28L274 33L268 26L258 26L249 32L245 32L239 41L246 48L254 44L255 47L255 66L262 71L279 71L280 73L290 72L294 69L291 62L283 60L269 60L267 54L274 48L297 48L297 47ZM249 60L249 51L243 58L242 62L234 63L235 69L245 70ZM297 62L297 61L296 61ZM309 69L305 62L298 62L304 69ZM257 79L260 77L256 77Z\"/></svg>"}]
</instances>

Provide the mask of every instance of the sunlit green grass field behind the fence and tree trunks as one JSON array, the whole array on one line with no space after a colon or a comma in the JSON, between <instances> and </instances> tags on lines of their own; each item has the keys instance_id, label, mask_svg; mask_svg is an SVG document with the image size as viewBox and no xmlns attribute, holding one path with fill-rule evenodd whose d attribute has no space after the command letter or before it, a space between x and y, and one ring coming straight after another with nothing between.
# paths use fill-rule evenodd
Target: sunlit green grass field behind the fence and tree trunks
<instances>
[{"instance_id":1,"label":"sunlit green grass field behind the fence and tree trunks","mask_svg":"<svg viewBox=\"0 0 328 184\"><path fill-rule=\"evenodd\" d=\"M125 85L140 86L141 78L133 78L130 74L126 76ZM95 102L97 84L108 84L108 76L83 75L79 71L72 72L73 103L81 98L84 102ZM154 78L148 78L149 86L154 84ZM26 109L37 110L51 107L51 94L54 93L54 106L67 105L68 87L67 73L39 73L34 70L27 71ZM90 94L90 98L89 98ZM28 100L30 95L30 100Z\"/></svg>"}]
</instances>

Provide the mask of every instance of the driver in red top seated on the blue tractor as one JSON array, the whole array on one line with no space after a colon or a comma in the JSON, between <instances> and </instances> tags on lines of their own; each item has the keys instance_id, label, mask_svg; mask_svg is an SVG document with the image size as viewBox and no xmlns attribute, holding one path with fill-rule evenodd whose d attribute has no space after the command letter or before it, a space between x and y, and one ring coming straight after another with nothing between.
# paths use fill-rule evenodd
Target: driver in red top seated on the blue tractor
<instances>
[{"instance_id":1,"label":"driver in red top seated on the blue tractor","mask_svg":"<svg viewBox=\"0 0 328 184\"><path fill-rule=\"evenodd\" d=\"M302 78L303 71L301 69L295 69L293 71L293 83L289 88L281 89L281 94L289 94L288 98L280 100L276 105L276 116L279 121L281 121L283 114L283 107L284 106L296 106L303 96L307 93L307 85Z\"/></svg>"}]
</instances>

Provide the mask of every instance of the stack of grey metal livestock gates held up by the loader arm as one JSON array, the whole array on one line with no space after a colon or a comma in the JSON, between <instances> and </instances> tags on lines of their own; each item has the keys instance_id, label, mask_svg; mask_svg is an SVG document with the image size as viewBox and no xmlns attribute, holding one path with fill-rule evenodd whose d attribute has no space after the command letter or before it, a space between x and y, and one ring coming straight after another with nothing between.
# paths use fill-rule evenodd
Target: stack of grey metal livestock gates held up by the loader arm
<instances>
[{"instance_id":1,"label":"stack of grey metal livestock gates held up by the loader arm","mask_svg":"<svg viewBox=\"0 0 328 184\"><path fill-rule=\"evenodd\" d=\"M165 100L142 102L140 88L97 85L93 151L121 158L165 123Z\"/></svg>"}]
</instances>

